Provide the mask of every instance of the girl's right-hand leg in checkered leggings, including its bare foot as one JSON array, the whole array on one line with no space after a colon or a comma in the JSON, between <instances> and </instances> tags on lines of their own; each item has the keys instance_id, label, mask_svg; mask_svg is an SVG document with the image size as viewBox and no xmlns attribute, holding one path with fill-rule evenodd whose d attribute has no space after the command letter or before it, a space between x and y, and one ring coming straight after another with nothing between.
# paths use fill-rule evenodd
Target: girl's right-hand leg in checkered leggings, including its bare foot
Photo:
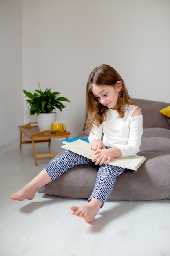
<instances>
[{"instance_id":1,"label":"girl's right-hand leg in checkered leggings, including its bare foot","mask_svg":"<svg viewBox=\"0 0 170 256\"><path fill-rule=\"evenodd\" d=\"M95 187L84 206L71 206L72 214L84 218L86 222L93 222L99 208L101 208L113 190L116 178L125 171L125 168L103 164L98 172Z\"/></svg>"}]
</instances>

